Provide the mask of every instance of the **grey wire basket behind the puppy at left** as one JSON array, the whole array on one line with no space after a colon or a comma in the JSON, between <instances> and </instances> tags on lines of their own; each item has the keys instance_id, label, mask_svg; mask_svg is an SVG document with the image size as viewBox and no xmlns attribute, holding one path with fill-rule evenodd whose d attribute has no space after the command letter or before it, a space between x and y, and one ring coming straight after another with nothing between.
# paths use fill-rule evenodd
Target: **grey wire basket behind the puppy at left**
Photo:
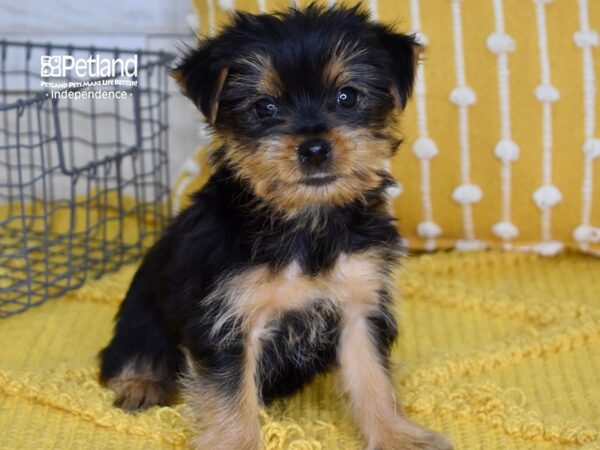
<instances>
[{"instance_id":1,"label":"grey wire basket behind the puppy at left","mask_svg":"<svg viewBox=\"0 0 600 450\"><path fill-rule=\"evenodd\" d=\"M48 56L137 73L49 74ZM0 41L0 317L135 261L166 225L172 58Z\"/></svg>"}]
</instances>

